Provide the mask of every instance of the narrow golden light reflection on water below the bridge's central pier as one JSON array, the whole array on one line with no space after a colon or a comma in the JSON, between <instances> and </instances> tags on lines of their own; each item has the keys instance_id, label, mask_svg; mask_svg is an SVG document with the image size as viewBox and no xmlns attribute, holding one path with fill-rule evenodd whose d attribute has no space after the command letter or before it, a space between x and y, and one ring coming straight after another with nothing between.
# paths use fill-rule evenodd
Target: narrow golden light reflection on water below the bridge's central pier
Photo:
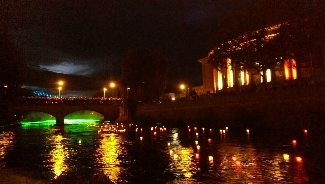
<instances>
[{"instance_id":1,"label":"narrow golden light reflection on water below the bridge's central pier","mask_svg":"<svg viewBox=\"0 0 325 184\"><path fill-rule=\"evenodd\" d=\"M57 134L51 137L49 140L54 145L54 149L50 152L50 161L53 163L52 170L55 174L54 178L57 178L61 175L63 171L65 171L68 166L65 163L68 149L64 148L65 144L62 140L65 138L62 134Z\"/></svg>"}]
</instances>

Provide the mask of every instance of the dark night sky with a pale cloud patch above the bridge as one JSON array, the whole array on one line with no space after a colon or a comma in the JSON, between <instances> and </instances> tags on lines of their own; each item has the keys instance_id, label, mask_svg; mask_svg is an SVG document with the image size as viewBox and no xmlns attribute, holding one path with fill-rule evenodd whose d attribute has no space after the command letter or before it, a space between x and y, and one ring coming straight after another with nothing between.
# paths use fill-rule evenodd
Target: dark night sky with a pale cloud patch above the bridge
<instances>
[{"instance_id":1,"label":"dark night sky with a pale cloud patch above the bridge","mask_svg":"<svg viewBox=\"0 0 325 184\"><path fill-rule=\"evenodd\" d=\"M2 16L32 68L117 78L128 50L160 50L169 78L201 82L198 59L215 22L236 1L33 1L2 3Z\"/></svg>"}]
</instances>

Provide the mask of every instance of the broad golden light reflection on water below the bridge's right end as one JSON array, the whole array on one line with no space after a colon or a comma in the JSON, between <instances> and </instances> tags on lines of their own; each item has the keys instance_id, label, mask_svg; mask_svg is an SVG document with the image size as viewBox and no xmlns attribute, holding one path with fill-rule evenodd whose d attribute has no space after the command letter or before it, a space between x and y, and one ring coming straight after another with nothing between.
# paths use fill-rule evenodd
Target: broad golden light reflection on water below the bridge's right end
<instances>
[{"instance_id":1,"label":"broad golden light reflection on water below the bridge's right end","mask_svg":"<svg viewBox=\"0 0 325 184\"><path fill-rule=\"evenodd\" d=\"M99 135L99 148L97 157L98 163L102 164L102 170L105 175L110 177L110 180L116 182L119 177L120 161L117 159L120 149L119 142L121 138L114 133Z\"/></svg>"}]
</instances>

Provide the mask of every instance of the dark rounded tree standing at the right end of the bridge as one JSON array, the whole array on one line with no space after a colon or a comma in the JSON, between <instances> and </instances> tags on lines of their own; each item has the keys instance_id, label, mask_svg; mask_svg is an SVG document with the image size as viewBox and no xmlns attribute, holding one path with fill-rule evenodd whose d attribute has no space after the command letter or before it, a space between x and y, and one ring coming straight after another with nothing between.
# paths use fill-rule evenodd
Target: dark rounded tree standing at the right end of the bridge
<instances>
[{"instance_id":1,"label":"dark rounded tree standing at the right end of the bridge","mask_svg":"<svg viewBox=\"0 0 325 184\"><path fill-rule=\"evenodd\" d=\"M163 95L168 66L168 60L159 51L147 48L131 50L122 60L124 99L131 115L138 102L152 102Z\"/></svg>"}]
</instances>

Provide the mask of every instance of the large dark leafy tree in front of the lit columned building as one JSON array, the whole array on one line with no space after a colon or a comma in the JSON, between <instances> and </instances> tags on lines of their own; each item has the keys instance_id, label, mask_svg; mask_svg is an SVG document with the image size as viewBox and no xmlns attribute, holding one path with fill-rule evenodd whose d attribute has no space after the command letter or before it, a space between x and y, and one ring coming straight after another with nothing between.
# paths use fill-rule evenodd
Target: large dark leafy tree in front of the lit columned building
<instances>
[{"instance_id":1,"label":"large dark leafy tree in front of the lit columned building","mask_svg":"<svg viewBox=\"0 0 325 184\"><path fill-rule=\"evenodd\" d=\"M231 67L261 75L266 88L266 70L282 65L290 56L286 53L284 57L286 48L275 35L284 21L295 16L288 13L293 7L300 9L303 3L251 1L233 10L219 21L208 62L221 70L230 58Z\"/></svg>"}]
</instances>

